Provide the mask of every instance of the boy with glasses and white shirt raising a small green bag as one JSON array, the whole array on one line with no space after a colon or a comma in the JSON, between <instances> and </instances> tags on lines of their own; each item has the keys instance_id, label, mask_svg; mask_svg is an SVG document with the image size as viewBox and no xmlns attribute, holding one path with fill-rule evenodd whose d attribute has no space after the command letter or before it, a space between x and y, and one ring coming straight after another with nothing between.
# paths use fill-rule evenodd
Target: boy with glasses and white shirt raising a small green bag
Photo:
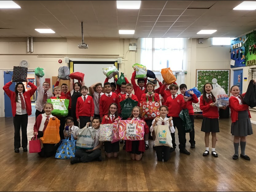
<instances>
[{"instance_id":1,"label":"boy with glasses and white shirt raising a small green bag","mask_svg":"<svg viewBox=\"0 0 256 192\"><path fill-rule=\"evenodd\" d=\"M54 97L52 92L49 91L50 84L48 82L43 82L43 86L40 84L40 78L36 76L36 86L37 86L37 100L36 100L36 118L39 114L43 114L43 105L47 102L47 99Z\"/></svg>"}]
</instances>

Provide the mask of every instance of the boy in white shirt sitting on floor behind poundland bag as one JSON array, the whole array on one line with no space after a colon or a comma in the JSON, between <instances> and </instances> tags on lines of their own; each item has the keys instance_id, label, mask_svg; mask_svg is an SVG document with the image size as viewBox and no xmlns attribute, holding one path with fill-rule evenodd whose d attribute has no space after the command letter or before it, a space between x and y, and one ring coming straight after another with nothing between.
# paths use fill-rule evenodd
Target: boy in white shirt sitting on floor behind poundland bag
<instances>
[{"instance_id":1,"label":"boy in white shirt sitting on floor behind poundland bag","mask_svg":"<svg viewBox=\"0 0 256 192\"><path fill-rule=\"evenodd\" d=\"M77 149L75 153L75 158L72 158L70 160L71 164L80 163L80 162L86 163L94 160L101 161L100 148L102 147L103 142L99 141L100 123L101 123L101 120L99 117L94 117L92 119L92 127L96 130L93 149L90 149L90 150L83 149L83 148ZM88 122L86 125L89 126L90 122Z\"/></svg>"}]
</instances>

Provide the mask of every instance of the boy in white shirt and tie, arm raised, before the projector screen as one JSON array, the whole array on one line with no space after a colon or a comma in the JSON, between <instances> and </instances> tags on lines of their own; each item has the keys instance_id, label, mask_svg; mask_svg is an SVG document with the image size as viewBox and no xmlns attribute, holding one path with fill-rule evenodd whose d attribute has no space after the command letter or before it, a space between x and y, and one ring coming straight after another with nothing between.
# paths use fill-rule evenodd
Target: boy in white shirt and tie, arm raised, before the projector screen
<instances>
[{"instance_id":1,"label":"boy in white shirt and tie, arm raised, before the projector screen","mask_svg":"<svg viewBox=\"0 0 256 192\"><path fill-rule=\"evenodd\" d=\"M97 82L89 87L89 93L94 101L94 117L100 117L100 98L104 94L102 92L102 84Z\"/></svg>"}]
</instances>

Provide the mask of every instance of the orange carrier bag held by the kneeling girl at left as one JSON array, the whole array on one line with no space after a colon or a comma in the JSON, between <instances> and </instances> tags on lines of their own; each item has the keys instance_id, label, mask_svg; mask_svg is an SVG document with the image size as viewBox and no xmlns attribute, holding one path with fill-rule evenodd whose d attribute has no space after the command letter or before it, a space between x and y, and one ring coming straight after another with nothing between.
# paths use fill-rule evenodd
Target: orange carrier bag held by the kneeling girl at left
<instances>
[{"instance_id":1,"label":"orange carrier bag held by the kneeling girl at left","mask_svg":"<svg viewBox=\"0 0 256 192\"><path fill-rule=\"evenodd\" d=\"M57 118L49 119L49 123L43 133L43 137L40 138L43 144L57 144L60 142L60 120Z\"/></svg>"}]
</instances>

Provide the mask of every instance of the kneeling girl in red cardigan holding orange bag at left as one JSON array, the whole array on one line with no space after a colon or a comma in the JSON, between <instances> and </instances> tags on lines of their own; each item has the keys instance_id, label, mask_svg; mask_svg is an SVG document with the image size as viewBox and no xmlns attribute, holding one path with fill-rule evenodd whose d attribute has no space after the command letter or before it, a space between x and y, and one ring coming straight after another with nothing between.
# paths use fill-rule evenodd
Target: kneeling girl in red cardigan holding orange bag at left
<instances>
[{"instance_id":1,"label":"kneeling girl in red cardigan holding orange bag at left","mask_svg":"<svg viewBox=\"0 0 256 192\"><path fill-rule=\"evenodd\" d=\"M45 113L39 114L36 118L36 123L34 124L34 135L37 135L38 138L43 137L45 129L49 123L49 119L56 119L56 117L52 115L53 106L51 103L45 103L43 110ZM40 157L51 157L56 154L58 146L58 144L43 144L43 148L38 154Z\"/></svg>"}]
</instances>

